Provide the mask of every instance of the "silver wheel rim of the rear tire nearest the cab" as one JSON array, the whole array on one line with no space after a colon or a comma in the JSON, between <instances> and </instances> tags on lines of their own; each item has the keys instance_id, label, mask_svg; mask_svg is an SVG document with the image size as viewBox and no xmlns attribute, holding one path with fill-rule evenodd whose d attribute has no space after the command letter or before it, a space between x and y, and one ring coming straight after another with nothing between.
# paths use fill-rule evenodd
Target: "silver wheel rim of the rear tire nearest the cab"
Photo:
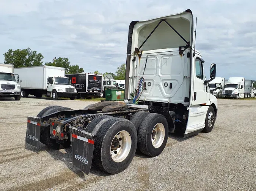
<instances>
[{"instance_id":1,"label":"silver wheel rim of the rear tire nearest the cab","mask_svg":"<svg viewBox=\"0 0 256 191\"><path fill-rule=\"evenodd\" d=\"M151 133L151 142L154 148L159 148L165 139L165 126L162 123L157 123Z\"/></svg>"}]
</instances>

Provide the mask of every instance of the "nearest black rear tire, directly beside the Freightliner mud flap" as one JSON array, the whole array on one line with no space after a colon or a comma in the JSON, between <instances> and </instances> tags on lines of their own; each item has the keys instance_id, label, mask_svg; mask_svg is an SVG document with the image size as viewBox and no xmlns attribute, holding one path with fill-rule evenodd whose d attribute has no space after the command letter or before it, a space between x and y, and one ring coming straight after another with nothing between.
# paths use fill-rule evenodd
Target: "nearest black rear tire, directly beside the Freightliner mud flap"
<instances>
[{"instance_id":1,"label":"nearest black rear tire, directly beside the Freightliner mud flap","mask_svg":"<svg viewBox=\"0 0 256 191\"><path fill-rule=\"evenodd\" d=\"M121 162L115 162L110 154L110 146L115 135L125 130L129 132L132 144L127 157ZM109 173L117 174L124 171L132 162L137 147L137 132L129 120L114 117L109 119L99 129L94 140L93 161L94 165Z\"/></svg>"}]
</instances>

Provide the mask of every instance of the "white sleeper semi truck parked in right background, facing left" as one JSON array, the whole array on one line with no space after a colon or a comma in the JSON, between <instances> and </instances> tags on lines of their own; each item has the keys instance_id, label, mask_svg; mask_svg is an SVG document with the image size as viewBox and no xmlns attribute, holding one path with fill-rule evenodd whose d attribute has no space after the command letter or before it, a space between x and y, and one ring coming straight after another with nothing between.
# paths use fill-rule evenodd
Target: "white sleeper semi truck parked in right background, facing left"
<instances>
[{"instance_id":1,"label":"white sleeper semi truck parked in right background, facing left","mask_svg":"<svg viewBox=\"0 0 256 191\"><path fill-rule=\"evenodd\" d=\"M222 92L222 97L230 98L244 98L244 77L230 77L226 84L224 91Z\"/></svg>"}]
</instances>

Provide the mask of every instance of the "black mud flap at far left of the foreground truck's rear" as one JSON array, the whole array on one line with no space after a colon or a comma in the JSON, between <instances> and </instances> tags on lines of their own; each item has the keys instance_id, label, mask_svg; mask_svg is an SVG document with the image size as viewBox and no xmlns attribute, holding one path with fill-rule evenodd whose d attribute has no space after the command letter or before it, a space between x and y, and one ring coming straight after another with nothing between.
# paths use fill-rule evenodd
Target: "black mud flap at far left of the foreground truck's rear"
<instances>
[{"instance_id":1,"label":"black mud flap at far left of the foreground truck's rear","mask_svg":"<svg viewBox=\"0 0 256 191\"><path fill-rule=\"evenodd\" d=\"M26 141L25 141L26 144L35 146L36 148L39 149L40 129L41 129L40 123L36 123L31 120L28 120Z\"/></svg>"}]
</instances>

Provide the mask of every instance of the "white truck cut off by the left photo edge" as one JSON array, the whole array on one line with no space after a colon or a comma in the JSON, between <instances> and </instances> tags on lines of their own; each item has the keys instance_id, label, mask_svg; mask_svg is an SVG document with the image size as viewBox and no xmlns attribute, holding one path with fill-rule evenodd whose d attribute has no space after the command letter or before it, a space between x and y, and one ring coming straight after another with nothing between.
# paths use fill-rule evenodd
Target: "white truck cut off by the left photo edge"
<instances>
[{"instance_id":1,"label":"white truck cut off by the left photo edge","mask_svg":"<svg viewBox=\"0 0 256 191\"><path fill-rule=\"evenodd\" d=\"M14 74L12 64L0 64L0 97L20 100L19 75Z\"/></svg>"}]
</instances>

